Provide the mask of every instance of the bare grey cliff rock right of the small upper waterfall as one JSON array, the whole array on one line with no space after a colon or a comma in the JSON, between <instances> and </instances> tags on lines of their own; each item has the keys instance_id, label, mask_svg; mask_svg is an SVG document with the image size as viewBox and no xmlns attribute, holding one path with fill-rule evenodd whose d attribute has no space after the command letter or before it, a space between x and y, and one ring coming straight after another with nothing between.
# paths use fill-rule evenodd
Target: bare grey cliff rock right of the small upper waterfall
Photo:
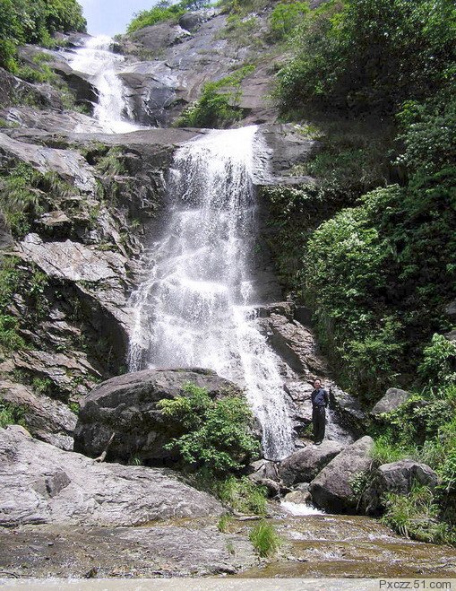
<instances>
[{"instance_id":1,"label":"bare grey cliff rock right of the small upper waterfall","mask_svg":"<svg viewBox=\"0 0 456 591\"><path fill-rule=\"evenodd\" d=\"M204 83L219 80L254 59L255 70L241 82L237 107L248 113L247 123L275 120L277 111L267 95L277 56L268 55L264 44L261 53L254 45L267 27L267 16L268 10L257 15L251 47L227 39L227 15L219 8L189 13L179 24L161 22L121 39L120 50L132 57L120 75L137 119L169 126L189 102L199 98ZM134 57L149 59L138 62Z\"/></svg>"}]
</instances>

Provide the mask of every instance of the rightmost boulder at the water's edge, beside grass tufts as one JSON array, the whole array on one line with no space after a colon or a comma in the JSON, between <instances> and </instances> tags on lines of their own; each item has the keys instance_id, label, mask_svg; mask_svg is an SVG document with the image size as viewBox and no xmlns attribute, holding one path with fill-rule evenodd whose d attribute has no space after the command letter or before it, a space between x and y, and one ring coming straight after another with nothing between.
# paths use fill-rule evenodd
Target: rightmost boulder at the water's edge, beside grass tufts
<instances>
[{"instance_id":1,"label":"rightmost boulder at the water's edge, beside grass tufts","mask_svg":"<svg viewBox=\"0 0 456 591\"><path fill-rule=\"evenodd\" d=\"M434 470L414 460L383 464L375 470L372 482L363 494L363 505L367 513L375 514L383 508L383 496L387 492L406 495L414 482L433 489L437 481Z\"/></svg>"}]
</instances>

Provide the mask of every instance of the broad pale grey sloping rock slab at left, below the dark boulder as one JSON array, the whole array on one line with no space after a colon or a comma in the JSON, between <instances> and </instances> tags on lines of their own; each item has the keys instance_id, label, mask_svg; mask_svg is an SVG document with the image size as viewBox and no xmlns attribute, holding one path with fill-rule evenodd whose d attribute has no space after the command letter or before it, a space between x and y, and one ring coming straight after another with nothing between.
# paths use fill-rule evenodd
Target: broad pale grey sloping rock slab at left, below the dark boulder
<instances>
[{"instance_id":1,"label":"broad pale grey sloping rock slab at left, below the dark boulder","mask_svg":"<svg viewBox=\"0 0 456 591\"><path fill-rule=\"evenodd\" d=\"M0 430L0 526L137 526L221 512L217 500L169 470L97 464L18 425Z\"/></svg>"}]
</instances>

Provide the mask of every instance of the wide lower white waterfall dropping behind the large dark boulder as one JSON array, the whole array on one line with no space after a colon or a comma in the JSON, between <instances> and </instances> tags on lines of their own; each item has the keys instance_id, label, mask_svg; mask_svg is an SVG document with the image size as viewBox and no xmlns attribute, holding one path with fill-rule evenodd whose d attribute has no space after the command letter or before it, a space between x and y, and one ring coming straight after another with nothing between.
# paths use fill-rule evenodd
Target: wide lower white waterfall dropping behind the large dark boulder
<instances>
[{"instance_id":1,"label":"wide lower white waterfall dropping behind the large dark boulder","mask_svg":"<svg viewBox=\"0 0 456 591\"><path fill-rule=\"evenodd\" d=\"M255 132L213 131L176 151L164 237L132 297L130 369L198 366L245 386L264 454L280 459L293 451L292 425L279 360L255 326L250 268Z\"/></svg>"}]
</instances>

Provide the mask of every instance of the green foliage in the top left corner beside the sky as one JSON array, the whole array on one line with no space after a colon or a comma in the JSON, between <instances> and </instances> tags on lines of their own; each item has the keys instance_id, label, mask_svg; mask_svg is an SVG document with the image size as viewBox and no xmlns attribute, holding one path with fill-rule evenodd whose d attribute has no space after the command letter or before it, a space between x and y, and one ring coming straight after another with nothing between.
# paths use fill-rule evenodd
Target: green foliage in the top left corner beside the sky
<instances>
[{"instance_id":1,"label":"green foliage in the top left corner beside the sky","mask_svg":"<svg viewBox=\"0 0 456 591\"><path fill-rule=\"evenodd\" d=\"M76 0L0 0L0 66L15 73L18 46L49 46L53 33L85 28Z\"/></svg>"}]
</instances>

